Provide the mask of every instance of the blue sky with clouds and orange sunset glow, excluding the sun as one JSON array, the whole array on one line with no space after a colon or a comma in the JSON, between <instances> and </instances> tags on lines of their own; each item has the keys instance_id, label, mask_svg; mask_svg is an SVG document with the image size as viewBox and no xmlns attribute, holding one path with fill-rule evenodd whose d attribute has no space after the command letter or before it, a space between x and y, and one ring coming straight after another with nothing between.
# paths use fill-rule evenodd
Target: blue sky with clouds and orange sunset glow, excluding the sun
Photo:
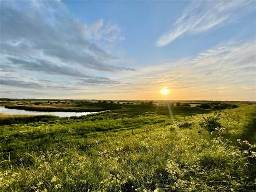
<instances>
[{"instance_id":1,"label":"blue sky with clouds and orange sunset glow, excluding the sun","mask_svg":"<svg viewBox=\"0 0 256 192\"><path fill-rule=\"evenodd\" d=\"M0 97L256 101L256 1L1 0Z\"/></svg>"}]
</instances>

